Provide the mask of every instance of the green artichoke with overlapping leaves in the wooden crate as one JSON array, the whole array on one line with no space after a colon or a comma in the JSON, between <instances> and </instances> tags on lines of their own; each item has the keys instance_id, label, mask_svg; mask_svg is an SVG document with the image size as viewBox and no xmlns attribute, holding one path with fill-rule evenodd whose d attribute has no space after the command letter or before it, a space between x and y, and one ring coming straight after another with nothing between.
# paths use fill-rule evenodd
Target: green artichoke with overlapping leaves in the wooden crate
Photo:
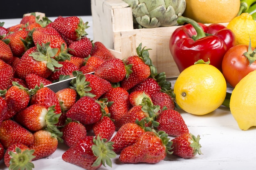
<instances>
[{"instance_id":1,"label":"green artichoke with overlapping leaves in the wooden crate","mask_svg":"<svg viewBox=\"0 0 256 170\"><path fill-rule=\"evenodd\" d=\"M135 24L139 28L177 25L177 17L186 8L185 0L123 0L132 8Z\"/></svg>"}]
</instances>

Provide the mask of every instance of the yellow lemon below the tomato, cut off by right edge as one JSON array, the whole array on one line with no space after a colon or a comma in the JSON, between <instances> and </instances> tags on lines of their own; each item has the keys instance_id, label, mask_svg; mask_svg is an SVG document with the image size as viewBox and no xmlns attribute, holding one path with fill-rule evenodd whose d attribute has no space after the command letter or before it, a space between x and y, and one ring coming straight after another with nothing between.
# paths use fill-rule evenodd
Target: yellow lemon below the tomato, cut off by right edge
<instances>
[{"instance_id":1,"label":"yellow lemon below the tomato, cut off by right edge","mask_svg":"<svg viewBox=\"0 0 256 170\"><path fill-rule=\"evenodd\" d=\"M256 126L256 70L247 74L233 89L230 111L243 131Z\"/></svg>"}]
</instances>

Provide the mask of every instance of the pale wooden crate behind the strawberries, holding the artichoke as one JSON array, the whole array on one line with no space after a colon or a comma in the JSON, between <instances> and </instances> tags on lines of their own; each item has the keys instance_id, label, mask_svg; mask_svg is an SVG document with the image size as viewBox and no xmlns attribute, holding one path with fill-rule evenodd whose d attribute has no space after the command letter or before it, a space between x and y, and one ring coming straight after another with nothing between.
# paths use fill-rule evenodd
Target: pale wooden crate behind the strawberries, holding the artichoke
<instances>
[{"instance_id":1,"label":"pale wooden crate behind the strawberries, holding the artichoke","mask_svg":"<svg viewBox=\"0 0 256 170\"><path fill-rule=\"evenodd\" d=\"M167 78L177 77L177 69L169 50L169 39L179 26L133 28L132 9L122 0L91 0L94 41L117 51L120 59L136 54L136 48L151 48L150 58L158 72Z\"/></svg>"}]
</instances>

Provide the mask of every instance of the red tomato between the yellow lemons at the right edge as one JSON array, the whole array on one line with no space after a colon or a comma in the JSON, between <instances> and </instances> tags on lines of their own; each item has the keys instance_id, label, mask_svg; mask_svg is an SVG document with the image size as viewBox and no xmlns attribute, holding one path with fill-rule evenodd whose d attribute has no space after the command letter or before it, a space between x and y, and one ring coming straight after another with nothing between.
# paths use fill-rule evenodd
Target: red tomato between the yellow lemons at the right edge
<instances>
[{"instance_id":1,"label":"red tomato between the yellow lemons at the right edge","mask_svg":"<svg viewBox=\"0 0 256 170\"><path fill-rule=\"evenodd\" d=\"M232 87L245 77L249 72L256 70L256 61L249 65L249 60L244 53L248 52L249 46L236 45L227 50L222 60L222 74L227 83ZM254 50L254 48L252 48ZM256 57L256 55L255 55Z\"/></svg>"}]
</instances>

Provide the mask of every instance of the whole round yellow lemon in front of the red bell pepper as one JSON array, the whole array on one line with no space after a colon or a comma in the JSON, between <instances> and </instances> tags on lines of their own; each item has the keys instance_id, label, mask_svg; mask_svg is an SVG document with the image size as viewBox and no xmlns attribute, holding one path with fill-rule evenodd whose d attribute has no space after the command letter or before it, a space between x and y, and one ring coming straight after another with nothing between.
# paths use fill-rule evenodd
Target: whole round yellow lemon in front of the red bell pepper
<instances>
[{"instance_id":1,"label":"whole round yellow lemon in front of the red bell pepper","mask_svg":"<svg viewBox=\"0 0 256 170\"><path fill-rule=\"evenodd\" d=\"M195 64L183 70L173 87L175 100L187 113L204 115L216 110L226 97L223 74L209 64Z\"/></svg>"}]
</instances>

